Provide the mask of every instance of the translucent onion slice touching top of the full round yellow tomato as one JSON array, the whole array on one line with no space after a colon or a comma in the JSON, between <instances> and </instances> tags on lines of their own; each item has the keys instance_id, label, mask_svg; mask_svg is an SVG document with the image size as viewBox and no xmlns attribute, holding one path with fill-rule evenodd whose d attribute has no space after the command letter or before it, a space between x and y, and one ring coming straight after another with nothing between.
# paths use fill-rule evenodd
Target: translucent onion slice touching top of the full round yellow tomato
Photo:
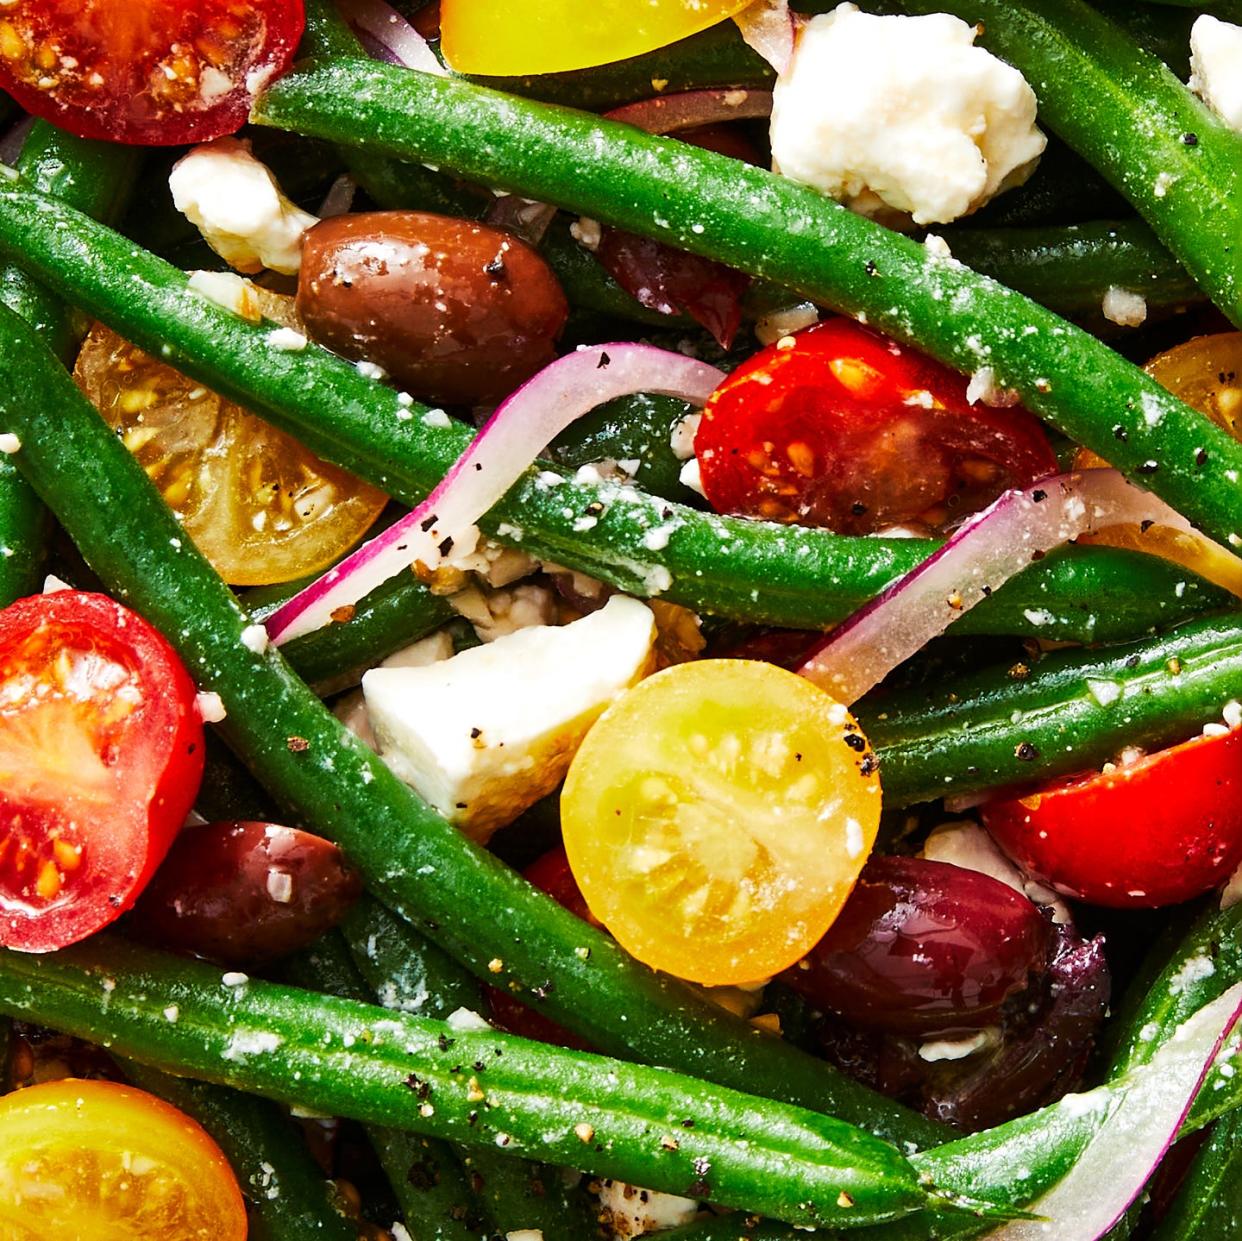
<instances>
[{"instance_id":1,"label":"translucent onion slice touching top of the full round yellow tomato","mask_svg":"<svg viewBox=\"0 0 1242 1241\"><path fill-rule=\"evenodd\" d=\"M1057 475L1007 491L975 513L944 547L828 634L797 671L851 703L1032 560L1126 522L1171 525L1202 539L1213 555L1231 554L1115 470Z\"/></svg>"}]
</instances>

